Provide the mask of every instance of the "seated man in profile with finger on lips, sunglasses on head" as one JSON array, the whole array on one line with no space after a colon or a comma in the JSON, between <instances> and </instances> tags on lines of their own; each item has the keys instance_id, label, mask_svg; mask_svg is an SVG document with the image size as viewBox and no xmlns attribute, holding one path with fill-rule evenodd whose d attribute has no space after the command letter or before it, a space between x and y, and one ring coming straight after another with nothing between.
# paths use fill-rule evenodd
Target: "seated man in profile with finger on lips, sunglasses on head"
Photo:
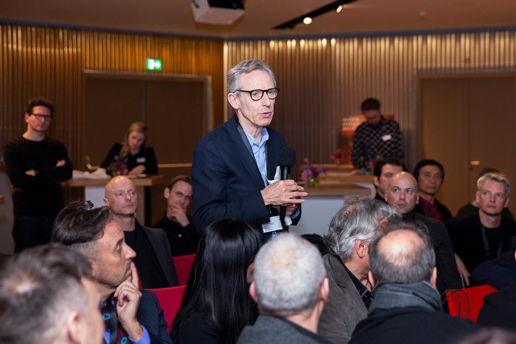
<instances>
[{"instance_id":1,"label":"seated man in profile with finger on lips, sunglasses on head","mask_svg":"<svg viewBox=\"0 0 516 344\"><path fill-rule=\"evenodd\" d=\"M136 254L108 208L90 209L87 202L73 202L57 215L52 239L89 259L101 295L106 342L172 342L156 296L138 289Z\"/></svg>"}]
</instances>

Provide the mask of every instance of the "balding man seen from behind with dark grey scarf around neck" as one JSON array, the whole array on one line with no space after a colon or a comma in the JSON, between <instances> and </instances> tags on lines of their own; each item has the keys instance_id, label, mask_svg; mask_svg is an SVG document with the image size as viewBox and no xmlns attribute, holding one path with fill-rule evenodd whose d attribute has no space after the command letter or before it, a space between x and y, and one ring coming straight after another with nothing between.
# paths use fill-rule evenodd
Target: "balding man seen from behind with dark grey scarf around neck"
<instances>
[{"instance_id":1,"label":"balding man seen from behind with dark grey scarf around neck","mask_svg":"<svg viewBox=\"0 0 516 344\"><path fill-rule=\"evenodd\" d=\"M427 232L395 221L369 245L369 281L375 298L350 344L456 343L478 331L467 319L442 312L436 256Z\"/></svg>"}]
</instances>

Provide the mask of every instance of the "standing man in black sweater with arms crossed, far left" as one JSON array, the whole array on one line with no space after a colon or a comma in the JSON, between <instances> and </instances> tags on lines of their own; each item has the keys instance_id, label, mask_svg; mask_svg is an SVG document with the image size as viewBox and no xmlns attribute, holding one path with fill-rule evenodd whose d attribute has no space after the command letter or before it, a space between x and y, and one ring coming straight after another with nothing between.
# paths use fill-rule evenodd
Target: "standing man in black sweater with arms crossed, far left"
<instances>
[{"instance_id":1,"label":"standing man in black sweater with arms crossed, far left","mask_svg":"<svg viewBox=\"0 0 516 344\"><path fill-rule=\"evenodd\" d=\"M30 100L26 132L5 146L5 166L13 189L14 252L50 242L52 222L63 207L59 183L72 177L65 145L45 136L53 109L44 99Z\"/></svg>"}]
</instances>

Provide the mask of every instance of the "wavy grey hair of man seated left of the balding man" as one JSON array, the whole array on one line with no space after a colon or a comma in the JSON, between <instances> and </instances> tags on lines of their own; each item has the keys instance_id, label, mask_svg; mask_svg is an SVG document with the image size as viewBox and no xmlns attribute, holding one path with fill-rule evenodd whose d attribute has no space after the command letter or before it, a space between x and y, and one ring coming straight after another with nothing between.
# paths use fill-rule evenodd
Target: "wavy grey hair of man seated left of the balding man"
<instances>
[{"instance_id":1,"label":"wavy grey hair of man seated left of the balding man","mask_svg":"<svg viewBox=\"0 0 516 344\"><path fill-rule=\"evenodd\" d=\"M337 211L325 234L324 240L330 253L342 261L351 258L356 240L371 242L380 219L400 218L399 212L385 202L366 196L349 199Z\"/></svg>"}]
</instances>

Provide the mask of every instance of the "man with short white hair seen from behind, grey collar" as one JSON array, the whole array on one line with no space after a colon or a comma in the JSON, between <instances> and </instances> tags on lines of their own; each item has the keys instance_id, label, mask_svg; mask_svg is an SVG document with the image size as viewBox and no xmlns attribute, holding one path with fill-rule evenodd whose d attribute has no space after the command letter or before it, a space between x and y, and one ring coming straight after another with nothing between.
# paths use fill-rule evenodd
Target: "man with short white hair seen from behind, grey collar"
<instances>
[{"instance_id":1,"label":"man with short white hair seen from behind, grey collar","mask_svg":"<svg viewBox=\"0 0 516 344\"><path fill-rule=\"evenodd\" d=\"M314 245L280 234L256 255L253 276L249 292L260 316L245 327L238 343L329 343L316 335L329 286Z\"/></svg>"}]
</instances>

